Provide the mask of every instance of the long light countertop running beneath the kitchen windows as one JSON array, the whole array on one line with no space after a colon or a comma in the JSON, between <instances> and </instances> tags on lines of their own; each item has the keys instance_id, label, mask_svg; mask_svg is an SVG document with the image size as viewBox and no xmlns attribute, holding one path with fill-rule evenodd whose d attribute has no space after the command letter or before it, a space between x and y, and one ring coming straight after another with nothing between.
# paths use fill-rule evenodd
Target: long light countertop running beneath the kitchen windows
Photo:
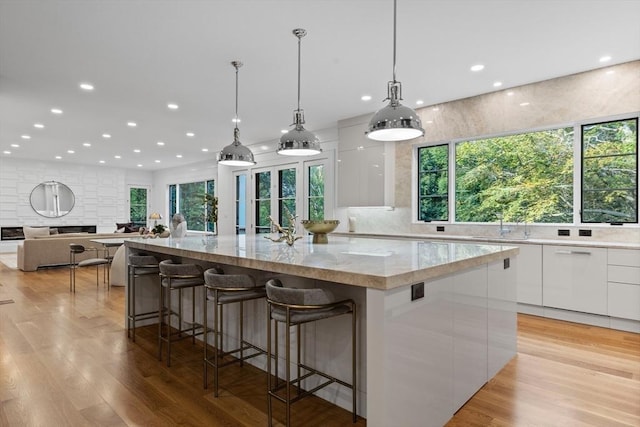
<instances>
[{"instance_id":1,"label":"long light countertop running beneath the kitchen windows","mask_svg":"<svg viewBox=\"0 0 640 427\"><path fill-rule=\"evenodd\" d=\"M558 245L558 246L584 246L591 248L612 248L612 249L635 249L640 250L640 243L631 242L605 242L597 240L575 240L575 239L514 239L500 237L484 237L484 236L460 236L455 234L378 234L378 233L346 233L335 232L331 236L354 236L369 237L374 239L411 239L411 240L436 240L436 241L459 241L459 242L478 242L498 245ZM589 239L585 237L585 239Z\"/></svg>"}]
</instances>

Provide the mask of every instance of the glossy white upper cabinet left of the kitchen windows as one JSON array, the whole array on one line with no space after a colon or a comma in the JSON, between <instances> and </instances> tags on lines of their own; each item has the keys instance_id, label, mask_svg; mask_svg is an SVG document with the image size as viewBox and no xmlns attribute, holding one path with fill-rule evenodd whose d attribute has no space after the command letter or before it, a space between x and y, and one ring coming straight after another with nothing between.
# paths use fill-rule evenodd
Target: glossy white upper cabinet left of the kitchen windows
<instances>
[{"instance_id":1,"label":"glossy white upper cabinet left of the kitchen windows","mask_svg":"<svg viewBox=\"0 0 640 427\"><path fill-rule=\"evenodd\" d=\"M367 123L339 124L338 206L393 205L393 146L368 139Z\"/></svg>"}]
</instances>

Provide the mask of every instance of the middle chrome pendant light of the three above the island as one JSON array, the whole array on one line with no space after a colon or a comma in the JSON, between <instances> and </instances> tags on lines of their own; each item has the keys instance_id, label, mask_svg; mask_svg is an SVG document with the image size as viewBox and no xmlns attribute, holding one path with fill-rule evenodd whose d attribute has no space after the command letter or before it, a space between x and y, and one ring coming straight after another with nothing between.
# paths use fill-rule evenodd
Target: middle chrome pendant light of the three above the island
<instances>
[{"instance_id":1,"label":"middle chrome pendant light of the three above the island","mask_svg":"<svg viewBox=\"0 0 640 427\"><path fill-rule=\"evenodd\" d=\"M293 112L293 129L282 135L278 144L278 154L283 156L313 156L322 152L320 141L313 133L306 130L304 124L304 111L300 109L300 40L307 35L302 28L293 30L293 35L298 38L298 109Z\"/></svg>"}]
</instances>

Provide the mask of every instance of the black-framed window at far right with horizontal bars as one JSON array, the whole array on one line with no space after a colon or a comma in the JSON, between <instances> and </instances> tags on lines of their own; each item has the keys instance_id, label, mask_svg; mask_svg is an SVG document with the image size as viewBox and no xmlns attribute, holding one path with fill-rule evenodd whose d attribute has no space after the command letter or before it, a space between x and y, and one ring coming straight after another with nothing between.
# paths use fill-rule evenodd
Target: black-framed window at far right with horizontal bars
<instances>
[{"instance_id":1,"label":"black-framed window at far right with horizontal bars","mask_svg":"<svg viewBox=\"0 0 640 427\"><path fill-rule=\"evenodd\" d=\"M582 126L582 222L638 222L638 119Z\"/></svg>"}]
</instances>

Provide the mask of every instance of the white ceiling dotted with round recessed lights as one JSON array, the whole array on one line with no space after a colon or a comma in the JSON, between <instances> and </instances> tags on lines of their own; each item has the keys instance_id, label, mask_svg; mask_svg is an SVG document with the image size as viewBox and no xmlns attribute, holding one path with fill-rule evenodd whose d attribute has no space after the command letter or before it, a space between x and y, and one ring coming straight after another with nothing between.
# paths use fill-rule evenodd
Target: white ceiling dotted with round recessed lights
<instances>
[{"instance_id":1,"label":"white ceiling dotted with round recessed lights","mask_svg":"<svg viewBox=\"0 0 640 427\"><path fill-rule=\"evenodd\" d=\"M240 139L274 150L296 107L297 27L308 31L306 127L372 113L392 75L392 10L391 0L0 0L0 159L214 161L233 139L232 60L245 64ZM639 16L638 0L399 0L397 78L416 107L637 60ZM476 63L485 69L472 73Z\"/></svg>"}]
</instances>

